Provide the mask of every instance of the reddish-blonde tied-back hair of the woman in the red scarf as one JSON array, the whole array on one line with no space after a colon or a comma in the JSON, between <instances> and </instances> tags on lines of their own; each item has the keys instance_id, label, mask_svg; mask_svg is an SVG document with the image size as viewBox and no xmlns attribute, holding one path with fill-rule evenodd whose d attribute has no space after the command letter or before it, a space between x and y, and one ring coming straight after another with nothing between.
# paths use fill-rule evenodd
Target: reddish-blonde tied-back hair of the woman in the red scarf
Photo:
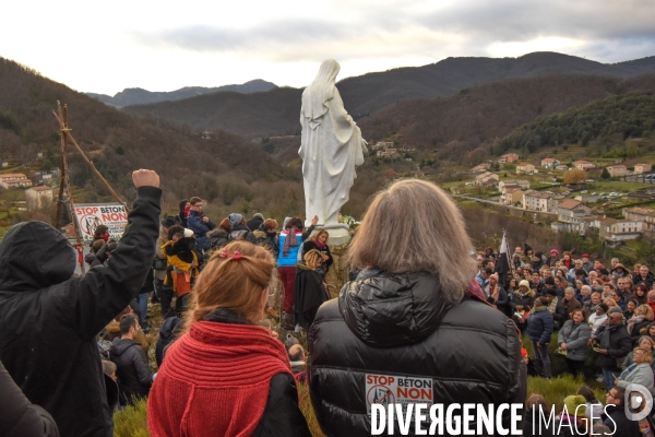
<instances>
[{"instance_id":1,"label":"reddish-blonde tied-back hair of the woman in the red scarf","mask_svg":"<svg viewBox=\"0 0 655 437\"><path fill-rule=\"evenodd\" d=\"M266 249L237 240L214 252L198 276L184 312L182 332L217 308L250 319L260 310L264 288L276 280L275 259Z\"/></svg>"}]
</instances>

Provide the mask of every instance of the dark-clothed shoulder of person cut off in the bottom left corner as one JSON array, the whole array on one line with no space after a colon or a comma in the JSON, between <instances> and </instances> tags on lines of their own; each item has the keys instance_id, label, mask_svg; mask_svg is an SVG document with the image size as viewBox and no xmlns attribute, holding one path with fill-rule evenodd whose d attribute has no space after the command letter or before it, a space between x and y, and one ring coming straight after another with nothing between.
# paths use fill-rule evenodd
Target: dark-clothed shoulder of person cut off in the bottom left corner
<instances>
[{"instance_id":1,"label":"dark-clothed shoulder of person cut off in the bottom left corner","mask_svg":"<svg viewBox=\"0 0 655 437\"><path fill-rule=\"evenodd\" d=\"M0 436L59 437L47 411L29 402L0 362Z\"/></svg>"}]
</instances>

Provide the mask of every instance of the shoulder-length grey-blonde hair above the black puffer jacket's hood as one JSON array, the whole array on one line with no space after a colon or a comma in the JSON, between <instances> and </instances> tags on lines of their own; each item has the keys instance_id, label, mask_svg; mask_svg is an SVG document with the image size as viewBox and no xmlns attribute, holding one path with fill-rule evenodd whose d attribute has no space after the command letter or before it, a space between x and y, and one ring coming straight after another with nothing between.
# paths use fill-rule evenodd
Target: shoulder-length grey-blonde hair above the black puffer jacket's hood
<instances>
[{"instance_id":1,"label":"shoulder-length grey-blonde hair above the black puffer jacket's hood","mask_svg":"<svg viewBox=\"0 0 655 437\"><path fill-rule=\"evenodd\" d=\"M477 270L462 213L434 184L405 179L379 191L348 249L353 267L438 275L452 303L464 297Z\"/></svg>"}]
</instances>

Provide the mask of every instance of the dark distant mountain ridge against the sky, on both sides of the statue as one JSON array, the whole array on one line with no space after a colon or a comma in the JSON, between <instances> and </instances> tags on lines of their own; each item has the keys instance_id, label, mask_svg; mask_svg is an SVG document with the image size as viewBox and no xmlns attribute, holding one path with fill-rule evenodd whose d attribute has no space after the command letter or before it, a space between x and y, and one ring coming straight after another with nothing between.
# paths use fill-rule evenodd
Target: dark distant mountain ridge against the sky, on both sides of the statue
<instances>
[{"instance_id":1,"label":"dark distant mountain ridge against the sky, on both sides of the statue","mask_svg":"<svg viewBox=\"0 0 655 437\"><path fill-rule=\"evenodd\" d=\"M407 98L452 96L461 90L509 79L546 74L629 78L655 72L655 57L606 64L556 52L519 58L446 58L422 67L403 67L337 82L346 110L355 120ZM247 138L297 134L301 88L278 87L235 96L214 93L176 102L127 106L138 116L176 120L198 130L225 129ZM278 114L272 114L277 105ZM238 108L239 111L228 110Z\"/></svg>"}]
</instances>

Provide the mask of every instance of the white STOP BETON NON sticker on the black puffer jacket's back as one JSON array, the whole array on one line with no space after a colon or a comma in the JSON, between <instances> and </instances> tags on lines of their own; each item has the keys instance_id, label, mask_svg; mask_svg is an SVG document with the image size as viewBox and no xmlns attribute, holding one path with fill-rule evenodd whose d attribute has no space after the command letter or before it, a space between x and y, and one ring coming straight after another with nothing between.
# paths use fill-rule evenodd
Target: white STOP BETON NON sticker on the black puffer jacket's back
<instances>
[{"instance_id":1,"label":"white STOP BETON NON sticker on the black puffer jacket's back","mask_svg":"<svg viewBox=\"0 0 655 437\"><path fill-rule=\"evenodd\" d=\"M433 403L432 379L398 375L366 375L366 412L371 415L371 405L378 403L386 410L389 404L401 404L403 411L413 403Z\"/></svg>"}]
</instances>

